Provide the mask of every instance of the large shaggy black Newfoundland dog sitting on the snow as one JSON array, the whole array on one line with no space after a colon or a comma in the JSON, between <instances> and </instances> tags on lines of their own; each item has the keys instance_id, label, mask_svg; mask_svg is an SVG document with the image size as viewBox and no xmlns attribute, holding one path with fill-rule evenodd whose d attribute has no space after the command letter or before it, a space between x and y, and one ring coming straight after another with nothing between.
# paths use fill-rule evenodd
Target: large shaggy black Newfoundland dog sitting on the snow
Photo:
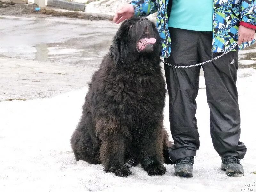
<instances>
[{"instance_id":1,"label":"large shaggy black Newfoundland dog sitting on the snow","mask_svg":"<svg viewBox=\"0 0 256 192\"><path fill-rule=\"evenodd\" d=\"M169 141L163 128L165 81L160 40L147 18L125 20L92 77L83 114L71 138L75 158L103 164L105 172L131 174L141 163L163 175Z\"/></svg>"}]
</instances>

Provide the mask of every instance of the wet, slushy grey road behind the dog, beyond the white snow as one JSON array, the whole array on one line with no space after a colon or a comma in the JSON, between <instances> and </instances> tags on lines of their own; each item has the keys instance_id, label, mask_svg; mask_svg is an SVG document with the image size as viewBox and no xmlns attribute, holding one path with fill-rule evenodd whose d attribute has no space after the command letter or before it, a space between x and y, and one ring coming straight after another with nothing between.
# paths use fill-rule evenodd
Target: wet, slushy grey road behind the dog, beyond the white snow
<instances>
[{"instance_id":1,"label":"wet, slushy grey road behind the dog, beyond the white snow","mask_svg":"<svg viewBox=\"0 0 256 192\"><path fill-rule=\"evenodd\" d=\"M86 86L118 28L110 21L0 15L0 101ZM239 63L256 68L255 45L239 52Z\"/></svg>"}]
</instances>

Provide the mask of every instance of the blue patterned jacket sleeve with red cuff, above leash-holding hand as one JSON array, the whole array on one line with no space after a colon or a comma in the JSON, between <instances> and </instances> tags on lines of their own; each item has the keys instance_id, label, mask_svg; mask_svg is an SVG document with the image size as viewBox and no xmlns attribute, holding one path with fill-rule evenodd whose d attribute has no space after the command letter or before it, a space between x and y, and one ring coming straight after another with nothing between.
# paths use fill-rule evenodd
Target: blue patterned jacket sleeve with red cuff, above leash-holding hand
<instances>
[{"instance_id":1,"label":"blue patterned jacket sleeve with red cuff, above leash-holding hand","mask_svg":"<svg viewBox=\"0 0 256 192\"><path fill-rule=\"evenodd\" d=\"M250 26L252 27L252 25L256 25L256 0L242 1L240 25L244 25L249 28Z\"/></svg>"}]
</instances>

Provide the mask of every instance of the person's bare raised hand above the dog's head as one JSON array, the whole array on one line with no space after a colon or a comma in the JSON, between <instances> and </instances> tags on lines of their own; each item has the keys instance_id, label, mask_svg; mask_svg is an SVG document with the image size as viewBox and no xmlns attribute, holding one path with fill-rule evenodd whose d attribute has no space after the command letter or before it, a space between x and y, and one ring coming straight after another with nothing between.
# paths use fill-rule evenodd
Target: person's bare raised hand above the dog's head
<instances>
[{"instance_id":1,"label":"person's bare raised hand above the dog's head","mask_svg":"<svg viewBox=\"0 0 256 192\"><path fill-rule=\"evenodd\" d=\"M134 7L131 4L125 5L116 11L113 21L118 24L134 15Z\"/></svg>"}]
</instances>

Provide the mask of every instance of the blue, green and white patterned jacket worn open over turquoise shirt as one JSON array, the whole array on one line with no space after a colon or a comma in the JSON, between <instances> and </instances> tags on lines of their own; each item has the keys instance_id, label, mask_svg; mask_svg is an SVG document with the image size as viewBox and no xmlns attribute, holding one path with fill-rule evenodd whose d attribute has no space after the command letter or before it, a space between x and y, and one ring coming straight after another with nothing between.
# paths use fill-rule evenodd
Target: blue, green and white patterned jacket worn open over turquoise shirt
<instances>
[{"instance_id":1,"label":"blue, green and white patterned jacket worn open over turquoise shirt","mask_svg":"<svg viewBox=\"0 0 256 192\"><path fill-rule=\"evenodd\" d=\"M168 4L169 3L169 4ZM132 0L136 16L147 16L158 11L156 27L162 43L162 57L171 53L168 17L172 0ZM256 0L213 0L212 53L225 52L238 40L240 21L256 25ZM169 10L168 10L169 9ZM235 49L243 49L255 40L242 43Z\"/></svg>"}]
</instances>

